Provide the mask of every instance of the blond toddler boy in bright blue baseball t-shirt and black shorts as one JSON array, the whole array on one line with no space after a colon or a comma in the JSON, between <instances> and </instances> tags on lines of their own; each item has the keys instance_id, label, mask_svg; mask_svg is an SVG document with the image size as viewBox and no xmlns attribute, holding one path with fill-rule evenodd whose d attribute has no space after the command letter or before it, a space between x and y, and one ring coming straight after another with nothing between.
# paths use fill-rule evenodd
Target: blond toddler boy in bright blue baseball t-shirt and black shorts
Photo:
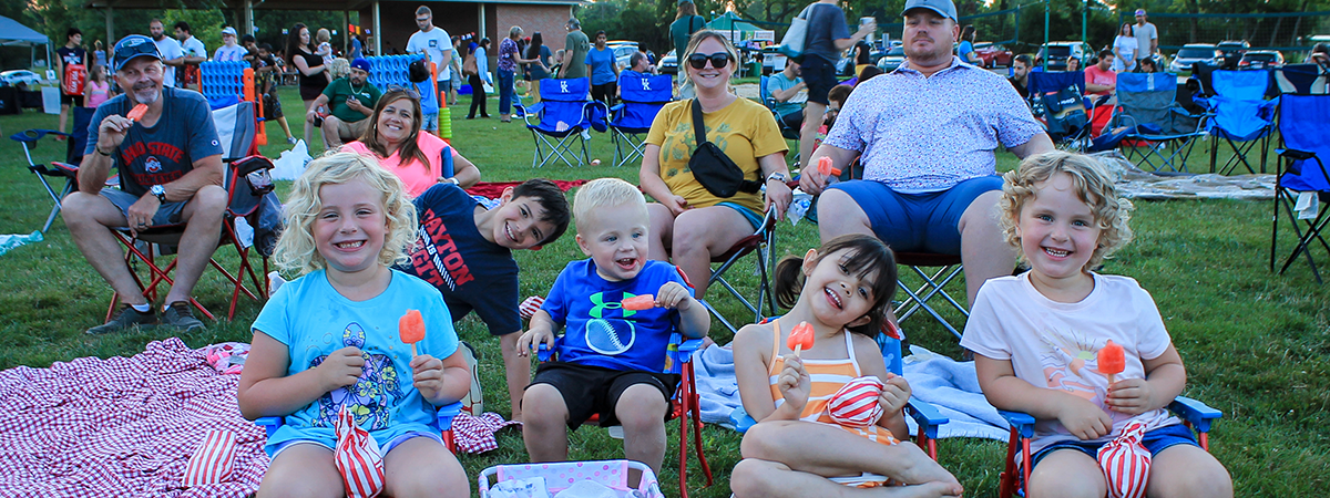
<instances>
[{"instance_id":1,"label":"blond toddler boy in bright blue baseball t-shirt and black shorts","mask_svg":"<svg viewBox=\"0 0 1330 498\"><path fill-rule=\"evenodd\" d=\"M670 333L702 337L706 308L674 266L646 259L646 199L633 185L601 178L573 201L577 246L591 259L568 263L549 297L531 317L517 347L555 344L559 361L541 364L523 397L523 438L533 462L568 459L568 432L592 414L600 425L624 426L624 454L660 473L665 420L677 374L661 373ZM625 309L633 296L654 295L654 307ZM633 473L629 483L640 475Z\"/></svg>"}]
</instances>

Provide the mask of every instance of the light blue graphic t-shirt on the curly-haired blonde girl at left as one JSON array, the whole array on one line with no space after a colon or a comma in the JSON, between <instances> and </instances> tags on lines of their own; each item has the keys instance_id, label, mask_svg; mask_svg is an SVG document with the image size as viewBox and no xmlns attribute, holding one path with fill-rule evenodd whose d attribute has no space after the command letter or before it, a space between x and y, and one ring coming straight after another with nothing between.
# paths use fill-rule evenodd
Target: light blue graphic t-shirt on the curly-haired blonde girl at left
<instances>
[{"instance_id":1,"label":"light blue graphic t-shirt on the curly-haired blonde girl at left","mask_svg":"<svg viewBox=\"0 0 1330 498\"><path fill-rule=\"evenodd\" d=\"M342 296L322 270L282 286L254 320L254 332L286 344L293 376L323 363L334 351L356 347L364 356L360 378L325 393L286 416L263 448L269 454L283 442L307 440L332 444L338 412L348 406L355 422L380 446L408 432L432 432L435 410L412 382L411 345L403 344L398 320L407 309L424 317L420 355L446 359L458 351L458 333L439 293L419 279L392 271L383 293L363 301Z\"/></svg>"}]
</instances>

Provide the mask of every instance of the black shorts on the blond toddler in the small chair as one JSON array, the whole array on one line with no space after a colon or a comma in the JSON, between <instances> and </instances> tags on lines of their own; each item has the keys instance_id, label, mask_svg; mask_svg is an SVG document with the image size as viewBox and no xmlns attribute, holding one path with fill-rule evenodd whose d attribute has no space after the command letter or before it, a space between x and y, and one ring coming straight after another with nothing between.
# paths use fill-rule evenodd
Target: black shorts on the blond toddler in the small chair
<instances>
[{"instance_id":1,"label":"black shorts on the blond toddler in the small chair","mask_svg":"<svg viewBox=\"0 0 1330 498\"><path fill-rule=\"evenodd\" d=\"M614 371L601 367L577 365L563 361L543 363L536 368L536 378L531 385L549 384L564 397L568 406L568 426L577 429L592 414L600 414L600 426L608 428L618 425L614 416L614 406L624 390L637 384L650 384L660 389L665 397L664 420L669 420L672 410L669 400L678 389L680 376L674 373L642 372L642 371ZM527 388L529 389L531 385Z\"/></svg>"}]
</instances>

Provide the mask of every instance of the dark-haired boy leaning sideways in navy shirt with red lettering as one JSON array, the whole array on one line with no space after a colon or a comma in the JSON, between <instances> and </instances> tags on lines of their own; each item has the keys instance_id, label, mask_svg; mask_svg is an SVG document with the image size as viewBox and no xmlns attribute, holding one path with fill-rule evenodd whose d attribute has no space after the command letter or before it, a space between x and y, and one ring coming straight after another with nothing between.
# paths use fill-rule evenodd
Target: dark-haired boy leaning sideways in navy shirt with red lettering
<instances>
[{"instance_id":1,"label":"dark-haired boy leaning sideways in navy shirt with red lettering","mask_svg":"<svg viewBox=\"0 0 1330 498\"><path fill-rule=\"evenodd\" d=\"M419 238L399 266L443 292L452 321L472 309L499 336L507 369L512 420L521 420L531 360L517 352L517 262L513 250L539 250L568 230L568 198L553 182L529 179L504 190L487 210L454 183L439 183L415 199Z\"/></svg>"}]
</instances>

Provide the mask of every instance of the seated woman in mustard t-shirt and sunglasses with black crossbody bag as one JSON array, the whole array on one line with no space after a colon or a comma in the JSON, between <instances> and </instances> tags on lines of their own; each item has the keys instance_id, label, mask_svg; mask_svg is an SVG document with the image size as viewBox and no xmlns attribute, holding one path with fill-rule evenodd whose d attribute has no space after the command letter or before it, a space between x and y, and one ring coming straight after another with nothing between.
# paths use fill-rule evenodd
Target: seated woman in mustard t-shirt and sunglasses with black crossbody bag
<instances>
[{"instance_id":1,"label":"seated woman in mustard t-shirt and sunglasses with black crossbody bag","mask_svg":"<svg viewBox=\"0 0 1330 498\"><path fill-rule=\"evenodd\" d=\"M697 138L693 127L693 101L665 105L646 135L646 149L638 182L658 203L648 206L652 215L650 259L673 260L692 276L696 297L706 293L712 256L721 255L739 239L753 234L766 210L783 216L793 194L786 186L789 170L771 112L761 104L739 98L729 89L738 65L734 46L714 31L700 31L688 42L682 57L701 105L706 139L733 161L743 178L766 182L761 193L738 193L729 198L713 195L689 169ZM666 252L673 248L673 254Z\"/></svg>"}]
</instances>

